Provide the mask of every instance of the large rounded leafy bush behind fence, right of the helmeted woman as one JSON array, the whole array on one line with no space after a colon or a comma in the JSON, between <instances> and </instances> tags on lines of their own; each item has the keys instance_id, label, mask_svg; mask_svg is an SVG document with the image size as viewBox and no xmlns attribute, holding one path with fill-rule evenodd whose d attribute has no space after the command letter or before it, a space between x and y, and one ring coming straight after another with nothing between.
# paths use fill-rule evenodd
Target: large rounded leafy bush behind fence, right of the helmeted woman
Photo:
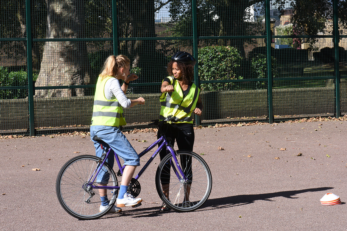
<instances>
[{"instance_id":1,"label":"large rounded leafy bush behind fence, right of the helmeted woman","mask_svg":"<svg viewBox=\"0 0 347 231\"><path fill-rule=\"evenodd\" d=\"M199 77L204 80L236 80L242 61L238 50L230 46L207 46L198 49ZM206 83L203 91L222 91L237 89L236 83Z\"/></svg>"}]
</instances>

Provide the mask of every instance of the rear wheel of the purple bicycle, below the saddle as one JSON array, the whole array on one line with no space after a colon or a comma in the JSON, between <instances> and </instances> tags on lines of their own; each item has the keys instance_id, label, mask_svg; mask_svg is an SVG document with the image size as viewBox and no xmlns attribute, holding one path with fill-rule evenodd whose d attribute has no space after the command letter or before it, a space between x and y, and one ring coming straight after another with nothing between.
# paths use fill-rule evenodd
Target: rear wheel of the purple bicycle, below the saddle
<instances>
[{"instance_id":1,"label":"rear wheel of the purple bicycle, below the saddle","mask_svg":"<svg viewBox=\"0 0 347 231\"><path fill-rule=\"evenodd\" d=\"M113 169L104 164L102 170L105 177L102 182L90 182L94 178L94 170L100 164L100 158L91 155L77 156L60 169L56 182L56 193L59 203L71 216L81 220L97 219L107 213L116 202L118 190L106 190L109 205L100 212L101 198L98 189L93 186L102 184L118 186ZM94 175L93 175L94 174Z\"/></svg>"}]
</instances>

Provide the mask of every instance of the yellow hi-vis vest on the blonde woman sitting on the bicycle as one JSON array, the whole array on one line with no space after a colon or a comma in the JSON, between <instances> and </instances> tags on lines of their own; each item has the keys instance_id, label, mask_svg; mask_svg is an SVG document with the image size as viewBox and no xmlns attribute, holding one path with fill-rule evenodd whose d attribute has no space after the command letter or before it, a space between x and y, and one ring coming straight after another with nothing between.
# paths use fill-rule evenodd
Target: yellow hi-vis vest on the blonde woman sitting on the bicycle
<instances>
[{"instance_id":1,"label":"yellow hi-vis vest on the blonde woman sitting on the bicycle","mask_svg":"<svg viewBox=\"0 0 347 231\"><path fill-rule=\"evenodd\" d=\"M105 83L112 76L107 76L103 80L101 76L98 78L96 83L96 90L94 96L94 107L93 107L93 116L92 124L93 125L104 125L104 126L113 126L119 127L126 125L125 119L123 117L123 109L118 100L112 99L108 100L104 94Z\"/></svg>"}]
</instances>

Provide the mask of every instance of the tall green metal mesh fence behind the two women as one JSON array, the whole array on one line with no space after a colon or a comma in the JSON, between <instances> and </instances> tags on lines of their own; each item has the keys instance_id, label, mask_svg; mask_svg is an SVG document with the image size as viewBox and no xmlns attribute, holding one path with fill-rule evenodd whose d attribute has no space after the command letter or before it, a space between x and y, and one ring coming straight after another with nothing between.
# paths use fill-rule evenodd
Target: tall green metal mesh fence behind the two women
<instances>
[{"instance_id":1,"label":"tall green metal mesh fence behind the two women","mask_svg":"<svg viewBox=\"0 0 347 231\"><path fill-rule=\"evenodd\" d=\"M139 75L127 126L159 117L178 50L198 60L197 126L347 112L345 0L8 0L0 16L0 134L88 130L104 60Z\"/></svg>"}]
</instances>

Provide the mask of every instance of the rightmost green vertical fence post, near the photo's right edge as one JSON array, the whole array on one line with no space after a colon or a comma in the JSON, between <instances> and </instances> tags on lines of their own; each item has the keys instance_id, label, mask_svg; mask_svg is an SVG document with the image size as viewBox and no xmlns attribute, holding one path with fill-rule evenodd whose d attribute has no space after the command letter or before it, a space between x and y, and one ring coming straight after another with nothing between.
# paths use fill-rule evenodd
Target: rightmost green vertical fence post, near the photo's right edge
<instances>
[{"instance_id":1,"label":"rightmost green vertical fence post, near the photo's right edge","mask_svg":"<svg viewBox=\"0 0 347 231\"><path fill-rule=\"evenodd\" d=\"M341 116L340 112L340 58L339 58L339 16L338 16L338 0L333 0L333 30L334 30L334 48L335 48L335 104L336 104L336 118Z\"/></svg>"}]
</instances>

